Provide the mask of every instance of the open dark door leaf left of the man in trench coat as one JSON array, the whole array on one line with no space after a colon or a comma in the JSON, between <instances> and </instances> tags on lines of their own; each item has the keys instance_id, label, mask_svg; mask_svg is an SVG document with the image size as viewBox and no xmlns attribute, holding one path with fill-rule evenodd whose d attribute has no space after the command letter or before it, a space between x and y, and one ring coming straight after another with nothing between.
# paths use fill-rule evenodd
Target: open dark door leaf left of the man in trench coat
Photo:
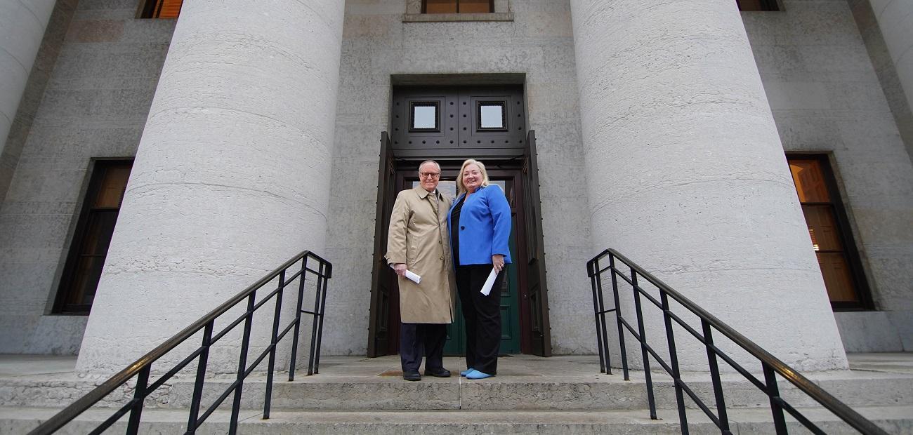
<instances>
[{"instance_id":1,"label":"open dark door leaf left of the man in trench coat","mask_svg":"<svg viewBox=\"0 0 913 435\"><path fill-rule=\"evenodd\" d=\"M391 334L389 317L391 298L396 292L396 274L387 266L383 254L387 252L387 229L390 228L390 212L396 199L396 167L390 137L381 133L381 165L377 174L377 214L374 220L374 254L371 280L371 315L368 328L368 356L387 355L395 346L398 336ZM399 310L396 310L398 315ZM392 322L399 325L399 317ZM391 337L393 336L393 337Z\"/></svg>"}]
</instances>

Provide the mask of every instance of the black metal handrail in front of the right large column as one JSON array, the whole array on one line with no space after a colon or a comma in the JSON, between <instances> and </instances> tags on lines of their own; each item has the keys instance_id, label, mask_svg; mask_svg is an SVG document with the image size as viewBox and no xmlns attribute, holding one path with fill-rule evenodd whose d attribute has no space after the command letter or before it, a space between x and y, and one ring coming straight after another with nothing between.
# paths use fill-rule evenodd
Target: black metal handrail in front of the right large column
<instances>
[{"instance_id":1,"label":"black metal handrail in front of the right large column","mask_svg":"<svg viewBox=\"0 0 913 435\"><path fill-rule=\"evenodd\" d=\"M603 268L600 266L600 261L603 260L603 258L606 256L609 258L609 265ZM615 259L620 260L630 268L630 277L618 270L618 268L615 266ZM642 267L638 266L631 260L628 260L624 255L618 253L614 249L606 249L601 254L594 256L592 260L586 263L586 270L587 274L590 276L591 284L593 286L593 312L596 318L596 339L599 342L600 370L603 373L612 373L608 354L609 343L605 327L605 315L614 312L618 326L618 342L621 350L624 380L630 380L628 377L627 353L624 348L624 329L627 329L627 331L631 333L640 343L641 357L644 362L647 403L650 407L651 419L656 419L656 399L654 399L653 380L650 375L650 363L648 355L653 356L656 359L656 362L663 369L665 369L666 372L672 376L674 380L676 403L678 408L678 419L681 424L682 433L688 432L684 394L687 394L688 397L695 401L695 403L698 405L698 408L707 414L708 418L717 425L722 433L731 433L729 430L729 418L726 412L722 382L719 378L719 365L717 361L717 357L719 357L723 359L723 361L725 361L727 364L729 364L730 367L739 372L740 375L748 379L750 383L753 384L756 388L767 394L771 403L771 414L773 418L774 428L778 434L787 433L786 419L783 414L784 410L789 412L792 417L801 422L805 428L812 430L813 433L824 434L824 431L818 428L811 420L803 416L803 414L799 412L798 409L793 408L792 405L790 405L785 399L780 396L780 390L777 386L776 375L780 375L783 378L789 380L792 385L803 391L805 395L820 403L822 406L824 406L825 409L833 412L835 416L843 419L846 423L855 428L855 430L859 430L861 433L865 434L887 435L887 432L878 428L875 423L866 419L855 410L849 408L844 402L834 398L834 396L832 396L830 393L815 385L811 380L805 378L795 369L787 366L777 357L773 357L769 352L756 345L750 339L742 336L735 329L720 321L719 318L711 315L705 309L701 308L684 295L681 295L672 287L666 285L666 283L660 281L653 274L646 272ZM610 309L605 309L603 302L602 278L603 272L606 271L610 271L612 276L614 308ZM624 319L624 316L622 316L621 310L619 309L617 276L621 276L624 281L632 286L635 302L635 313L637 318L636 330L635 327L631 326L631 324L626 319ZM638 276L645 278L650 284L655 285L656 288L659 289L659 300L657 300L653 295L645 292L645 290L640 285L637 285ZM644 315L643 311L641 310L642 295L648 301L650 301L650 303L659 307L663 311L663 320L666 326L666 345L669 349L668 363L659 356L653 347L650 347L650 345L646 342ZM677 303L681 306L687 308L687 310L692 314L700 318L702 333L699 333L693 327L688 325L684 320L682 320L681 317L677 316L671 311L669 306L670 297L677 301ZM673 321L675 321L679 326L682 326L692 336L696 337L698 341L703 343L704 347L707 349L708 368L713 383L714 399L716 401L717 408L716 413L711 411L708 405L704 403L703 400L698 398L698 395L695 394L694 391L689 388L681 378L681 373L678 368L675 334L673 333L672 329ZM713 329L719 331L719 333L721 333L723 336L729 337L733 343L742 349L745 349L752 357L756 357L761 361L761 368L764 373L763 382L761 382L761 380L756 378L754 375L750 374L748 370L742 368L738 363L735 362L732 357L726 355L722 350L720 350L719 347L714 344L712 335Z\"/></svg>"}]
</instances>

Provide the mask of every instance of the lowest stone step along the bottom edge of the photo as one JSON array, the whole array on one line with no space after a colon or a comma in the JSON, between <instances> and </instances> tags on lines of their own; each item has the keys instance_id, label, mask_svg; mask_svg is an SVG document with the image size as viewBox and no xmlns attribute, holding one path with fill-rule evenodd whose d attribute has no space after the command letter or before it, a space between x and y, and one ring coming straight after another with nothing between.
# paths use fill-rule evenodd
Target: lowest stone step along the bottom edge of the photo
<instances>
[{"instance_id":1,"label":"lowest stone step along the bottom edge of the photo","mask_svg":"<svg viewBox=\"0 0 913 435\"><path fill-rule=\"evenodd\" d=\"M26 433L49 418L57 409L0 408L0 433ZM857 433L843 421L823 409L802 409L825 433ZM106 409L90 409L60 430L61 434L81 434L94 429L110 415ZM913 434L913 406L864 407L859 411L892 434ZM680 427L675 411L664 410L659 419L649 419L646 409L630 410L413 410L413 411L274 411L262 419L258 411L242 411L239 433L625 433L678 434ZM179 409L146 409L142 413L140 433L181 433L186 425L186 411ZM691 433L719 433L719 429L698 410L687 412ZM788 419L791 433L803 433L801 425ZM200 434L226 433L229 413L216 411ZM109 430L122 433L126 417ZM773 433L767 409L733 409L729 412L733 433Z\"/></svg>"}]
</instances>

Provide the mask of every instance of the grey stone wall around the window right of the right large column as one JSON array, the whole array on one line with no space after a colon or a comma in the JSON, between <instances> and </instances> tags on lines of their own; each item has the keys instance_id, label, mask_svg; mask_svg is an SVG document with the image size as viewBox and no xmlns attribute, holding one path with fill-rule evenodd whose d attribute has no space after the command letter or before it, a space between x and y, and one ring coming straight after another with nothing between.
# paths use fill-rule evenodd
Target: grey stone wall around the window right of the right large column
<instances>
[{"instance_id":1,"label":"grey stone wall around the window right of the right large column","mask_svg":"<svg viewBox=\"0 0 913 435\"><path fill-rule=\"evenodd\" d=\"M786 151L825 152L877 312L836 313L847 351L910 350L913 166L845 0L786 0L745 12Z\"/></svg>"}]
</instances>

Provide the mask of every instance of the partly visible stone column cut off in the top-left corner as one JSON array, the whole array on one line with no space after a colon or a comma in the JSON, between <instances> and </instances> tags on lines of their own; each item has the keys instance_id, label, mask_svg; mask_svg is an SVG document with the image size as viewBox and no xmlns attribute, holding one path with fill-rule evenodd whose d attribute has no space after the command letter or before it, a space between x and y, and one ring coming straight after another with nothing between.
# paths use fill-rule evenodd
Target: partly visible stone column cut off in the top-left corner
<instances>
[{"instance_id":1,"label":"partly visible stone column cut off in the top-left corner","mask_svg":"<svg viewBox=\"0 0 913 435\"><path fill-rule=\"evenodd\" d=\"M0 0L0 155L54 3L55 0ZM4 194L0 192L0 198Z\"/></svg>"}]
</instances>

